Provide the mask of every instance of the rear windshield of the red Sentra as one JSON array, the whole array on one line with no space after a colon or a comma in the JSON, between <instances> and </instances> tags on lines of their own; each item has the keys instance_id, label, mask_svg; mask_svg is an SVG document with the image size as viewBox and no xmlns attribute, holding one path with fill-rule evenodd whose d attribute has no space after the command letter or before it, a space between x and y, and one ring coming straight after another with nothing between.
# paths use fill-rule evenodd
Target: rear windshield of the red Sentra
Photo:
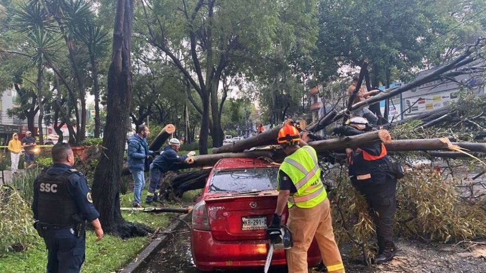
<instances>
[{"instance_id":1,"label":"rear windshield of the red Sentra","mask_svg":"<svg viewBox=\"0 0 486 273\"><path fill-rule=\"evenodd\" d=\"M278 168L218 171L213 175L209 193L258 193L275 190Z\"/></svg>"}]
</instances>

